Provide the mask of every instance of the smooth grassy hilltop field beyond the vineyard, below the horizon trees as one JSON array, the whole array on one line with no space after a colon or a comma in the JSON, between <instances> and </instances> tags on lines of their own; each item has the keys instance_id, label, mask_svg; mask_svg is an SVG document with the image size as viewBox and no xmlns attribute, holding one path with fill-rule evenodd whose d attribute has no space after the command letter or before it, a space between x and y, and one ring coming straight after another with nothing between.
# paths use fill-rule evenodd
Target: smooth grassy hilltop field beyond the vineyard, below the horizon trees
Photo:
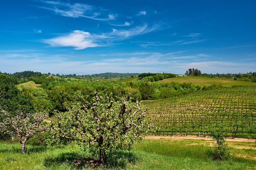
<instances>
[{"instance_id":1,"label":"smooth grassy hilltop field beyond the vineyard, below the horizon trees","mask_svg":"<svg viewBox=\"0 0 256 170\"><path fill-rule=\"evenodd\" d=\"M209 77L174 77L163 79L159 83L169 83L169 82L178 82L178 83L193 83L199 84L201 86L211 86L212 84L222 85L222 86L234 86L234 85L251 85L256 86L254 82L244 82L234 79L219 79L219 78L209 78Z\"/></svg>"}]
</instances>

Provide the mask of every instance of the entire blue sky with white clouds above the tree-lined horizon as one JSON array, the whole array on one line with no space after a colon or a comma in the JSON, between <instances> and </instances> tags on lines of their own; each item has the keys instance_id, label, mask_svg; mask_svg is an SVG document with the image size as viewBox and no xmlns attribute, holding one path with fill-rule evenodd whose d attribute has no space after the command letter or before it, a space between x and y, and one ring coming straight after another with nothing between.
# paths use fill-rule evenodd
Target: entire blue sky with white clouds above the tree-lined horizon
<instances>
[{"instance_id":1,"label":"entire blue sky with white clouds above the tree-lined horizon","mask_svg":"<svg viewBox=\"0 0 256 170\"><path fill-rule=\"evenodd\" d=\"M256 71L256 1L2 0L0 71Z\"/></svg>"}]
</instances>

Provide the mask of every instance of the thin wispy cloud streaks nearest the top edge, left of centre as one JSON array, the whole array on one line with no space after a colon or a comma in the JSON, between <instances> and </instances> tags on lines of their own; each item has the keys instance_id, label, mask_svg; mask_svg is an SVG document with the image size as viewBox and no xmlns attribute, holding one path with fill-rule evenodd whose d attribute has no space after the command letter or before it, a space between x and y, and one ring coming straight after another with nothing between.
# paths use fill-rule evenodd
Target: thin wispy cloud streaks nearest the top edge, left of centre
<instances>
[{"instance_id":1,"label":"thin wispy cloud streaks nearest the top edge, left of centre","mask_svg":"<svg viewBox=\"0 0 256 170\"><path fill-rule=\"evenodd\" d=\"M52 7L40 7L54 11L58 15L72 18L89 18L92 20L115 20L117 14L110 13L108 10L103 10L88 4L81 3L66 3L61 1L42 1Z\"/></svg>"}]
</instances>

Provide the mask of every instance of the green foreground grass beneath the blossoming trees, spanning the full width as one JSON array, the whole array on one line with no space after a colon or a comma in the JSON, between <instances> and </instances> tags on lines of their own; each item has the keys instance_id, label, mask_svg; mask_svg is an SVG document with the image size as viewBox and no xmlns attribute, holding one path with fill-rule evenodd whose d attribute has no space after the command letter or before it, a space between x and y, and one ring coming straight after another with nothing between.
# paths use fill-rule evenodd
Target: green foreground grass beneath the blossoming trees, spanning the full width
<instances>
[{"instance_id":1,"label":"green foreground grass beneath the blossoming trees, spanning the full width","mask_svg":"<svg viewBox=\"0 0 256 170\"><path fill-rule=\"evenodd\" d=\"M255 142L228 142L231 159L213 161L209 150L215 141L146 139L133 152L117 151L108 157L108 166L98 169L127 170L252 170L256 168ZM248 149L248 146L250 148ZM85 168L92 155L77 147L27 146L20 154L19 144L0 143L1 170L71 170Z\"/></svg>"}]
</instances>

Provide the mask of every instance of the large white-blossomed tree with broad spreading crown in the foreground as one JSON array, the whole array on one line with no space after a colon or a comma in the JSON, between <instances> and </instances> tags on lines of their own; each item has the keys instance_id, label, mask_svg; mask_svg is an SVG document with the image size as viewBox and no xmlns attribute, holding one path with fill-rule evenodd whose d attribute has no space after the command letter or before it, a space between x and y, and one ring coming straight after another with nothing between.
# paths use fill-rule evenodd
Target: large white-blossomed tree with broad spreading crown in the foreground
<instances>
[{"instance_id":1,"label":"large white-blossomed tree with broad spreading crown in the foreground","mask_svg":"<svg viewBox=\"0 0 256 170\"><path fill-rule=\"evenodd\" d=\"M148 132L152 124L146 118L146 108L130 97L115 101L111 95L94 93L93 99L60 113L54 121L53 137L78 141L81 146L99 149L100 163L117 146L129 147Z\"/></svg>"}]
</instances>

